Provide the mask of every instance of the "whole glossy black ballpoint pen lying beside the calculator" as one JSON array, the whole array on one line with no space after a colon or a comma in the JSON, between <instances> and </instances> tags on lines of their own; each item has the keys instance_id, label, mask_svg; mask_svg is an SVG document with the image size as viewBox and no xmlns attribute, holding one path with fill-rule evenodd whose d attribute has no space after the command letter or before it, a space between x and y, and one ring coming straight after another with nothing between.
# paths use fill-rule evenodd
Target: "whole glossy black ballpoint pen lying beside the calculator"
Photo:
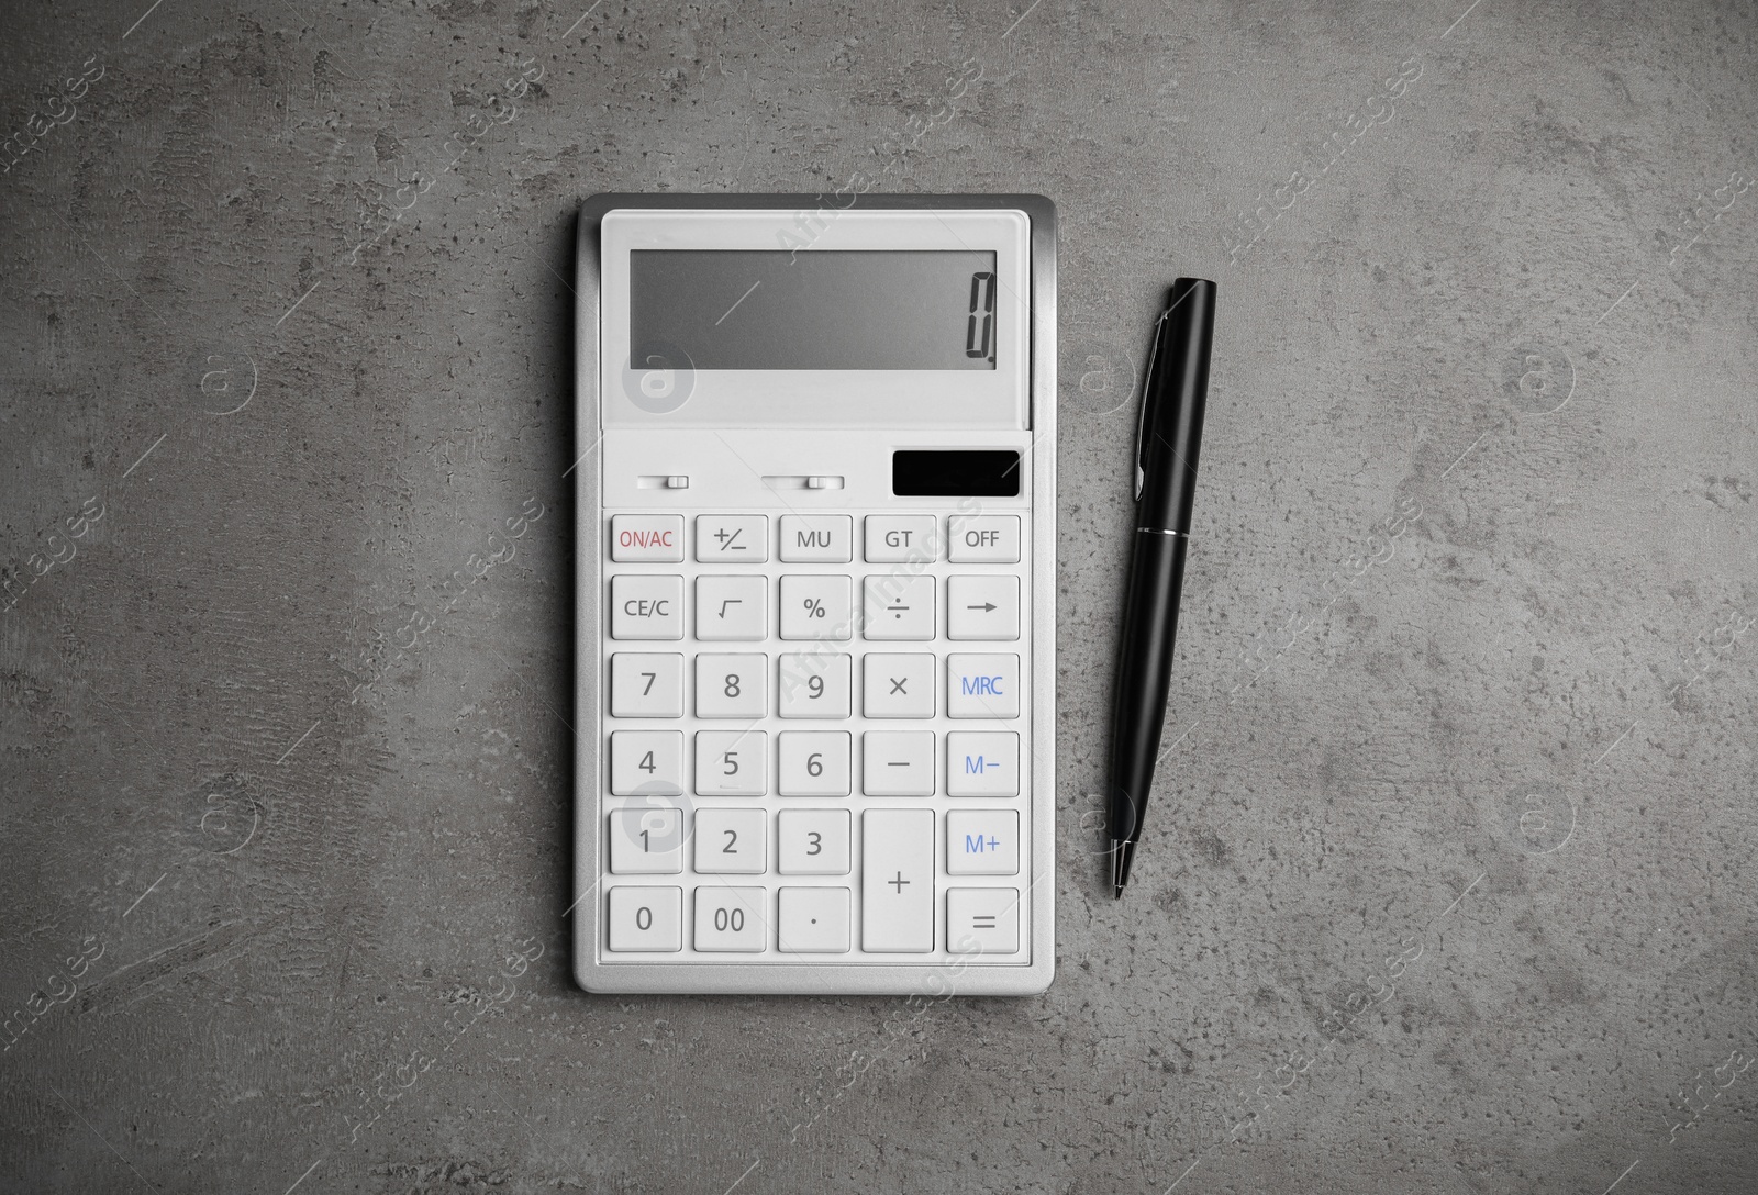
<instances>
[{"instance_id":1,"label":"whole glossy black ballpoint pen lying beside the calculator","mask_svg":"<svg viewBox=\"0 0 1758 1195\"><path fill-rule=\"evenodd\" d=\"M1111 719L1111 884L1116 896L1129 882L1160 754L1213 339L1215 283L1180 278L1166 295L1166 311L1153 334L1136 431L1136 545L1123 594Z\"/></svg>"}]
</instances>

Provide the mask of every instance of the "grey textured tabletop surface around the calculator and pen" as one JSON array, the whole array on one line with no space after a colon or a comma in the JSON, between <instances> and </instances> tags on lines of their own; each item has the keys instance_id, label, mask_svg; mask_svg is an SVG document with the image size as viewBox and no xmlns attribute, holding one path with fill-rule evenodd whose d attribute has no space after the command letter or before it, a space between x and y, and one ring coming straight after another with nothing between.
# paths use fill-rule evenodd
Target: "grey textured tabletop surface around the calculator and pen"
<instances>
[{"instance_id":1,"label":"grey textured tabletop surface around the calculator and pen","mask_svg":"<svg viewBox=\"0 0 1758 1195\"><path fill-rule=\"evenodd\" d=\"M1466 2L12 5L0 1183L1753 1190L1758 16ZM1060 207L1058 977L585 996L573 209L854 170Z\"/></svg>"}]
</instances>

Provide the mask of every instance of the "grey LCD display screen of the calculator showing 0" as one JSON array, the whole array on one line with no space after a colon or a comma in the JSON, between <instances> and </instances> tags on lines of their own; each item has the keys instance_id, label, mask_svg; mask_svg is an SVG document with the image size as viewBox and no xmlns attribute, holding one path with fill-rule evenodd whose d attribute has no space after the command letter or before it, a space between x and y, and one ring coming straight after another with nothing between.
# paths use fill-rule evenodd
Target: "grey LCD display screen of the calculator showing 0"
<instances>
[{"instance_id":1,"label":"grey LCD display screen of the calculator showing 0","mask_svg":"<svg viewBox=\"0 0 1758 1195\"><path fill-rule=\"evenodd\" d=\"M631 250L629 360L995 369L993 251Z\"/></svg>"}]
</instances>

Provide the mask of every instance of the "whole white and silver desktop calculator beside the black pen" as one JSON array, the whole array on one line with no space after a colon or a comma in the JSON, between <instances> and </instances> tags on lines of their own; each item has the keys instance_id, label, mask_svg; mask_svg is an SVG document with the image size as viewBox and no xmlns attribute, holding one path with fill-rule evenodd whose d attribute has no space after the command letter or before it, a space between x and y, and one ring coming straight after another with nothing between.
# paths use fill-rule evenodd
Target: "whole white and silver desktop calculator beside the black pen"
<instances>
[{"instance_id":1,"label":"whole white and silver desktop calculator beside the black pen","mask_svg":"<svg viewBox=\"0 0 1758 1195\"><path fill-rule=\"evenodd\" d=\"M577 272L577 981L1042 991L1055 207L598 195Z\"/></svg>"}]
</instances>

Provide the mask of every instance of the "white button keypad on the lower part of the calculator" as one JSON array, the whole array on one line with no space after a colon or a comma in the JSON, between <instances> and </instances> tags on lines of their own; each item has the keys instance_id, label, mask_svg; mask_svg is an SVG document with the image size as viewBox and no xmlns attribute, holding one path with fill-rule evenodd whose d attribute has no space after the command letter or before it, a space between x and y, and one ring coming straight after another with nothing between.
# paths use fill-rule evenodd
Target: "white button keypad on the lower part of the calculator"
<instances>
[{"instance_id":1,"label":"white button keypad on the lower part of the calculator","mask_svg":"<svg viewBox=\"0 0 1758 1195\"><path fill-rule=\"evenodd\" d=\"M607 951L1018 954L1023 515L631 513L608 531Z\"/></svg>"}]
</instances>

